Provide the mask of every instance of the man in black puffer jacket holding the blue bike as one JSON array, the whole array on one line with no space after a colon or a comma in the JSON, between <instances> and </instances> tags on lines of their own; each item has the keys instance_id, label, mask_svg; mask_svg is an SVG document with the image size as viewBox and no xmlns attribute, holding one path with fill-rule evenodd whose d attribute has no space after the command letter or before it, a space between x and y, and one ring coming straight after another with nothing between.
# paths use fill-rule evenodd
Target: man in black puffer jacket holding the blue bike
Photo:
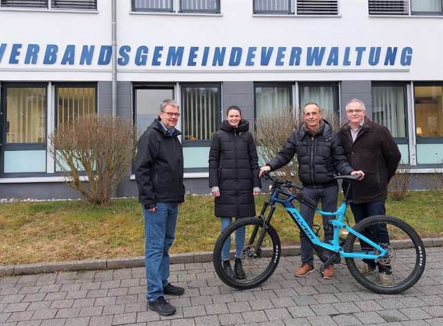
<instances>
[{"instance_id":1,"label":"man in black puffer jacket holding the blue bike","mask_svg":"<svg viewBox=\"0 0 443 326\"><path fill-rule=\"evenodd\" d=\"M316 103L310 102L305 105L303 117L305 122L289 136L277 156L260 168L260 175L287 165L297 154L298 177L303 185L303 196L314 201L316 205L321 201L323 211L334 212L338 199L338 183L334 174L362 174L362 177L364 174L362 171L354 171L347 162L340 139L332 132L329 123L322 119L320 107ZM312 227L314 210L301 203L300 214ZM332 225L329 224L329 220L333 218L323 216L325 240L332 239ZM295 271L295 275L304 277L314 271L314 250L303 232L300 232L300 244L302 266ZM323 278L333 277L334 266L330 265L323 271Z\"/></svg>"}]
</instances>

